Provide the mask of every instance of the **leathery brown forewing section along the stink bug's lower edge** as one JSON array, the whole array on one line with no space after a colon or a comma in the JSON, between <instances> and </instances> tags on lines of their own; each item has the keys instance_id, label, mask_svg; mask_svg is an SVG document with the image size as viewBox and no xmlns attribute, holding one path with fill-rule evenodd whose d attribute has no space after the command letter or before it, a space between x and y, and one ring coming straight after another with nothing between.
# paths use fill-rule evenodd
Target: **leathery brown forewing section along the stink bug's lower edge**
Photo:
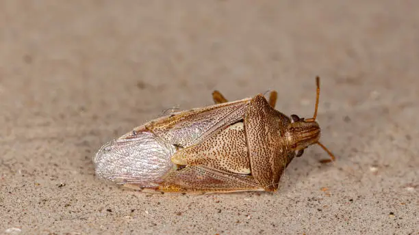
<instances>
[{"instance_id":1,"label":"leathery brown forewing section along the stink bug's lower edge","mask_svg":"<svg viewBox=\"0 0 419 235\"><path fill-rule=\"evenodd\" d=\"M229 174L205 166L188 166L170 174L161 191L178 193L215 193L263 190L251 176Z\"/></svg>"}]
</instances>

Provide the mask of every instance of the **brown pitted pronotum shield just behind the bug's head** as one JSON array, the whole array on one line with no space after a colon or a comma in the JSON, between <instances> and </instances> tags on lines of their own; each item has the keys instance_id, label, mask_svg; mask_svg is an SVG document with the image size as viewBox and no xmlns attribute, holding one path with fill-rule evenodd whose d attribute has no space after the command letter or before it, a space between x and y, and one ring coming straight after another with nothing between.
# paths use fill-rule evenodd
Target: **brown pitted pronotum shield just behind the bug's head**
<instances>
[{"instance_id":1,"label":"brown pitted pronotum shield just behind the bug's head","mask_svg":"<svg viewBox=\"0 0 419 235\"><path fill-rule=\"evenodd\" d=\"M244 128L252 176L266 191L277 189L283 170L294 157L282 137L289 122L287 116L269 106L262 94L252 98L244 118Z\"/></svg>"}]
</instances>

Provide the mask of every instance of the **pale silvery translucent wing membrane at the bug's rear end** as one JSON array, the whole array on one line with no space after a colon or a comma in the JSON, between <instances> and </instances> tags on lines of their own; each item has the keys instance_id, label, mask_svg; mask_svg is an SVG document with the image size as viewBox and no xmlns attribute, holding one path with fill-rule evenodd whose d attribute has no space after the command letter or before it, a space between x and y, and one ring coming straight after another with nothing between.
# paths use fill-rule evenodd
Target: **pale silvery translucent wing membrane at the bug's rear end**
<instances>
[{"instance_id":1,"label":"pale silvery translucent wing membrane at the bug's rear end","mask_svg":"<svg viewBox=\"0 0 419 235\"><path fill-rule=\"evenodd\" d=\"M94 156L95 173L117 184L158 186L173 168L170 157L174 152L175 146L153 133L121 137L102 146Z\"/></svg>"}]
</instances>

